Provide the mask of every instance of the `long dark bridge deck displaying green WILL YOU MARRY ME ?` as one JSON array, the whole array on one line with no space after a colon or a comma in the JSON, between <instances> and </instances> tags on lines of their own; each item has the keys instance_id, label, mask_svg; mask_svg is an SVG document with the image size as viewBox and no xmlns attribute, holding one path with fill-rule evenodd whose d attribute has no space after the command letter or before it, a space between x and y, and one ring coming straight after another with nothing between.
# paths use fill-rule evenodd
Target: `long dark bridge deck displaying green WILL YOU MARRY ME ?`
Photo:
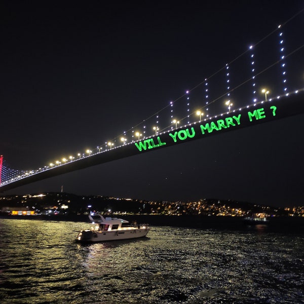
<instances>
[{"instance_id":1,"label":"long dark bridge deck displaying green WILL YOU MARRY ME ?","mask_svg":"<svg viewBox=\"0 0 304 304\"><path fill-rule=\"evenodd\" d=\"M297 94L283 96L279 99L276 98L268 102L258 103L255 106L250 105L230 113L215 116L206 121L204 120L195 124L186 125L135 143L125 144L117 148L103 151L102 153L74 160L65 165L56 166L52 169L47 169L28 177L1 185L0 191L8 191L25 184L60 174L302 113L304 113L303 91L298 92Z\"/></svg>"}]
</instances>

